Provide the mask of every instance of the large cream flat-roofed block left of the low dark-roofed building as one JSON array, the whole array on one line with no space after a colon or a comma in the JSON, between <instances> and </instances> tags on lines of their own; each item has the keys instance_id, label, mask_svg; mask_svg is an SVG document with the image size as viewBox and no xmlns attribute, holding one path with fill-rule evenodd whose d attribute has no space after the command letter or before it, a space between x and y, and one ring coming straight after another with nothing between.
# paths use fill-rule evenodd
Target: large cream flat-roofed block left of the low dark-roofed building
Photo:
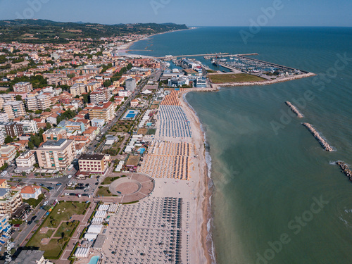
<instances>
[{"instance_id":1,"label":"large cream flat-roofed block left of the low dark-roofed building","mask_svg":"<svg viewBox=\"0 0 352 264\"><path fill-rule=\"evenodd\" d=\"M36 150L39 167L67 170L75 158L75 151L72 139L48 140Z\"/></svg>"}]
</instances>

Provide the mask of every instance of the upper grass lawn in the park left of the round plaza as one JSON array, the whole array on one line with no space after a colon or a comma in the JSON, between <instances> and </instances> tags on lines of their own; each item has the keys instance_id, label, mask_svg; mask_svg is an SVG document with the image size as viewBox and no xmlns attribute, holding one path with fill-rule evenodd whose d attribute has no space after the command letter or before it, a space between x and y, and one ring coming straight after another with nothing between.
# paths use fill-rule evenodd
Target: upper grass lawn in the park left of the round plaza
<instances>
[{"instance_id":1,"label":"upper grass lawn in the park left of the round plaza","mask_svg":"<svg viewBox=\"0 0 352 264\"><path fill-rule=\"evenodd\" d=\"M82 215L86 209L86 203L60 202L54 208L53 213L50 214L58 224L61 221L68 221L72 215ZM46 218L43 227L53 227L51 225L51 218Z\"/></svg>"}]
</instances>

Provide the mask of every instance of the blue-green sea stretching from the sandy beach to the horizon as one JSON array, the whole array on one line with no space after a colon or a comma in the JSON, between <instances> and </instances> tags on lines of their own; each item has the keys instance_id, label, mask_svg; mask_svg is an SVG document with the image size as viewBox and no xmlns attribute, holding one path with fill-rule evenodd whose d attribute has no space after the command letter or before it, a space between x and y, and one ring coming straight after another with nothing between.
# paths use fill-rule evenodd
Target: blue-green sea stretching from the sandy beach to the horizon
<instances>
[{"instance_id":1,"label":"blue-green sea stretching from the sandy beach to the horizon","mask_svg":"<svg viewBox=\"0 0 352 264\"><path fill-rule=\"evenodd\" d=\"M317 74L187 94L211 157L213 263L350 264L352 183L334 162L352 167L352 28L258 31L243 39L248 27L198 27L144 39L131 49L150 51L131 53L258 53L253 58ZM334 151L322 149L302 122Z\"/></svg>"}]
</instances>

